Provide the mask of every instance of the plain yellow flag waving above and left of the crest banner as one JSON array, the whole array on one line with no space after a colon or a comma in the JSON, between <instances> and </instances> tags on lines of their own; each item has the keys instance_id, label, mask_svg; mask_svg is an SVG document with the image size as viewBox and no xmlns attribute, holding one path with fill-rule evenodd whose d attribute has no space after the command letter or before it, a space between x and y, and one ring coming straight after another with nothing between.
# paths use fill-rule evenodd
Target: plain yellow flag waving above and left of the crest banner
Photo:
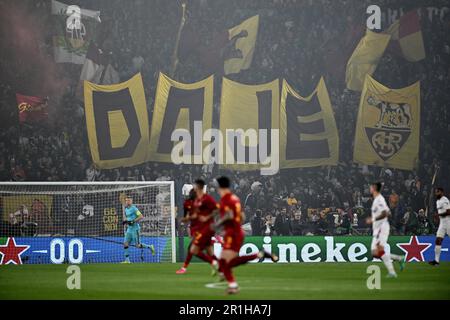
<instances>
[{"instance_id":1,"label":"plain yellow flag waving above and left of the crest banner","mask_svg":"<svg viewBox=\"0 0 450 320\"><path fill-rule=\"evenodd\" d=\"M378 61L383 56L391 35L375 33L367 29L347 62L345 82L347 88L361 91L366 74L372 75L377 68Z\"/></svg>"}]
</instances>

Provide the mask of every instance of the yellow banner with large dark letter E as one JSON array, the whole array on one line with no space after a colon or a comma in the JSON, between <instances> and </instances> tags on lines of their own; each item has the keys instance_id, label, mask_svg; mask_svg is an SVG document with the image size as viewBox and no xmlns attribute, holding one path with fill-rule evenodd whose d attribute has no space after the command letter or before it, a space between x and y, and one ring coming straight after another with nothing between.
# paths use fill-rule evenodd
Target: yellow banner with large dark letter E
<instances>
[{"instance_id":1,"label":"yellow banner with large dark letter E","mask_svg":"<svg viewBox=\"0 0 450 320\"><path fill-rule=\"evenodd\" d=\"M323 78L301 97L283 80L280 106L281 168L336 165L339 137Z\"/></svg>"}]
</instances>

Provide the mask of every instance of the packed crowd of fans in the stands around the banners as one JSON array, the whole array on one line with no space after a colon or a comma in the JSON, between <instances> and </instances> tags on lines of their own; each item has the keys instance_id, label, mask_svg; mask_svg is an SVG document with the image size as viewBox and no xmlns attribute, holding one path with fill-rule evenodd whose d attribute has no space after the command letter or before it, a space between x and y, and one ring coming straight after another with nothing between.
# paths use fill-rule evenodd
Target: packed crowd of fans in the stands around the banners
<instances>
[{"instance_id":1,"label":"packed crowd of fans in the stands around the banners","mask_svg":"<svg viewBox=\"0 0 450 320\"><path fill-rule=\"evenodd\" d=\"M151 117L159 72L169 73L171 56L181 6L178 1L75 1L81 6L101 11L111 26L109 33L114 53L114 66L122 80L130 76L133 58L143 59L140 70L144 79ZM383 3L386 5L383 7ZM394 9L404 11L423 7L418 1L398 2ZM380 1L382 8L389 1ZM50 1L31 1L29 6L43 20L50 18ZM449 15L421 20L426 59L411 63L386 52L374 77L389 87L404 87L421 81L420 161L413 171L352 162L359 92L345 89L342 66L330 68L330 46L342 55L345 46L360 39L350 39L351 30L365 25L365 1L188 1L187 24L205 42L243 19L260 15L260 26L254 59L248 70L230 75L243 83L263 83L285 78L302 95L307 95L324 76L335 113L340 141L337 166L285 169L274 176L259 172L223 171L212 166L145 163L130 168L98 170L89 153L83 103L76 95L80 68L58 66L72 79L57 101L48 123L19 124L15 93L26 76L15 74L16 81L5 75L14 73L14 63L1 60L0 84L0 180L2 181L133 181L175 180L177 204L181 186L203 177L206 181L227 174L233 190L241 198L246 213L246 228L253 235L364 234L368 227L371 181L384 182L383 194L389 199L394 234L428 234L434 232L434 200L432 180L450 187L450 27ZM444 7L445 1L436 1ZM386 22L383 24L387 26ZM50 31L48 31L50 33ZM357 33L354 33L355 35ZM351 38L351 37L350 37ZM51 38L44 37L41 50L51 54ZM356 42L355 42L356 41ZM351 54L351 51L350 51ZM346 63L341 56L335 63ZM348 58L348 57L347 57ZM208 75L199 59L191 57L178 67L175 78L181 82L198 81ZM341 61L342 60L342 61ZM334 60L333 60L334 61ZM23 61L26 63L26 61ZM219 77L216 77L219 78ZM216 90L218 91L218 90ZM220 90L219 90L220 93ZM219 93L215 92L215 95ZM215 97L215 108L219 107ZM217 111L217 110L216 110ZM214 119L217 122L217 119ZM215 194L212 184L209 192ZM428 210L427 210L428 208Z\"/></svg>"}]
</instances>

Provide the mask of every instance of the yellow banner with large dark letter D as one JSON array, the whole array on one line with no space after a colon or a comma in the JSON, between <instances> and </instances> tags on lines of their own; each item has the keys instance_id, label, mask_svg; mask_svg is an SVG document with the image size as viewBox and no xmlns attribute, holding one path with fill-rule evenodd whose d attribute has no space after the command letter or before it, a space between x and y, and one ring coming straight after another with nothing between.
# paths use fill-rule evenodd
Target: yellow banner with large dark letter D
<instances>
[{"instance_id":1,"label":"yellow banner with large dark letter D","mask_svg":"<svg viewBox=\"0 0 450 320\"><path fill-rule=\"evenodd\" d=\"M146 161L149 128L140 74L113 85L84 81L84 101L89 146L98 168Z\"/></svg>"}]
</instances>

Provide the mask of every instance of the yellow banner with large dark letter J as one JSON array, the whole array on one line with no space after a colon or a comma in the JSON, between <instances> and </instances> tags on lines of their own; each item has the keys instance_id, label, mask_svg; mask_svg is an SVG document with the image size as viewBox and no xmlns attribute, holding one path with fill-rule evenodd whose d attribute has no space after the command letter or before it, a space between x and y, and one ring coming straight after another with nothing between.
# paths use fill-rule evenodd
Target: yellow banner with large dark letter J
<instances>
[{"instance_id":1,"label":"yellow banner with large dark letter J","mask_svg":"<svg viewBox=\"0 0 450 320\"><path fill-rule=\"evenodd\" d=\"M223 167L257 170L273 165L268 162L272 158L278 171L278 137L272 137L272 129L279 129L278 79L246 85L223 78L220 131L225 143L224 153L218 155ZM272 148L274 139L276 149Z\"/></svg>"}]
</instances>

